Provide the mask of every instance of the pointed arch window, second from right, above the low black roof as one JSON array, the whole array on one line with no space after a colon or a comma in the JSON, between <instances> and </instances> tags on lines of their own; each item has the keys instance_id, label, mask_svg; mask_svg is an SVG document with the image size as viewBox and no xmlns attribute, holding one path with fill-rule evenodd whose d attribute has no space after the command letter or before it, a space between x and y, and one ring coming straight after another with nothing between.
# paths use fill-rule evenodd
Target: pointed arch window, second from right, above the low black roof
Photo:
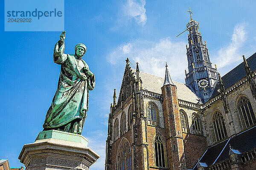
<instances>
[{"instance_id":1,"label":"pointed arch window, second from right, above the low black roof","mask_svg":"<svg viewBox=\"0 0 256 170\"><path fill-rule=\"evenodd\" d=\"M215 111L212 117L212 124L216 142L227 137L227 130L221 112Z\"/></svg>"}]
</instances>

